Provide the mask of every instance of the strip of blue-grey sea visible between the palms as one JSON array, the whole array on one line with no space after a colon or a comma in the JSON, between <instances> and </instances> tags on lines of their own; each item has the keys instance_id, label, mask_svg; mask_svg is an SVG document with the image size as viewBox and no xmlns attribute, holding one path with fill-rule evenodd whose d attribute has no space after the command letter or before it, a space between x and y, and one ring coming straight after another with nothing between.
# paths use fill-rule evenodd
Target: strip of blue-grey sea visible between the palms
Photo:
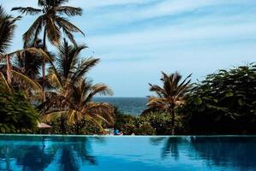
<instances>
[{"instance_id":1,"label":"strip of blue-grey sea visible between the palms","mask_svg":"<svg viewBox=\"0 0 256 171\"><path fill-rule=\"evenodd\" d=\"M96 102L110 103L124 114L140 115L146 109L146 97L96 97Z\"/></svg>"}]
</instances>

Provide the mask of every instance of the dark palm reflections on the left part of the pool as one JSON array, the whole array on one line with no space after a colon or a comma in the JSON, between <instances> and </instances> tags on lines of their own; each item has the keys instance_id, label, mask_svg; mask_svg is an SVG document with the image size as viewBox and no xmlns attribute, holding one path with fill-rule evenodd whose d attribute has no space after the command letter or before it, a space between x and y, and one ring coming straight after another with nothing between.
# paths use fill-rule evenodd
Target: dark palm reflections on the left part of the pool
<instances>
[{"instance_id":1,"label":"dark palm reflections on the left part of the pool","mask_svg":"<svg viewBox=\"0 0 256 171\"><path fill-rule=\"evenodd\" d=\"M27 139L27 138L24 138ZM0 144L0 170L76 171L83 164L96 165L88 138L11 139ZM19 141L18 141L19 140ZM102 142L102 139L91 139ZM53 165L53 166L51 166ZM20 168L21 167L21 168Z\"/></svg>"}]
</instances>

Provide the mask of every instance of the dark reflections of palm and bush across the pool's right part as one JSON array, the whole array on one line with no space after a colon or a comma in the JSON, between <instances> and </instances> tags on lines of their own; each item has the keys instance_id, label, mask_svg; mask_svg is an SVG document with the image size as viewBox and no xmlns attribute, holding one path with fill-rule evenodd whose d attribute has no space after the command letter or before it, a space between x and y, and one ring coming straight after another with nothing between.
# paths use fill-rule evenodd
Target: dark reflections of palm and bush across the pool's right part
<instances>
[{"instance_id":1,"label":"dark reflections of palm and bush across the pool's right part","mask_svg":"<svg viewBox=\"0 0 256 171\"><path fill-rule=\"evenodd\" d=\"M152 138L150 142L162 145L160 156L163 159L201 160L213 170L215 167L256 169L256 137L160 137Z\"/></svg>"}]
</instances>

